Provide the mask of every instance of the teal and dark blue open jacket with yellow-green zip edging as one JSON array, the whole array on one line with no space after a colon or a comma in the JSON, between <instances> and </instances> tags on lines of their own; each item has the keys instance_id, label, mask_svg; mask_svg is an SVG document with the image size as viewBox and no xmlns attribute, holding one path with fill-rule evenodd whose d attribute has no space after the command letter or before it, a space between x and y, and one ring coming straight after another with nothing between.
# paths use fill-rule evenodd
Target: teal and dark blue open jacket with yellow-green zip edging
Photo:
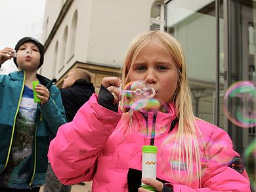
<instances>
[{"instance_id":1,"label":"teal and dark blue open jacket with yellow-green zip edging","mask_svg":"<svg viewBox=\"0 0 256 192\"><path fill-rule=\"evenodd\" d=\"M0 174L9 161L14 125L24 90L26 73L17 71L9 75L0 75ZM58 130L58 127L66 123L66 115L60 91L49 79L38 75L39 82L46 86L51 95L49 101L37 107L35 117L35 137L32 152L32 170L30 187L43 185L47 172L47 153L49 140Z\"/></svg>"}]
</instances>

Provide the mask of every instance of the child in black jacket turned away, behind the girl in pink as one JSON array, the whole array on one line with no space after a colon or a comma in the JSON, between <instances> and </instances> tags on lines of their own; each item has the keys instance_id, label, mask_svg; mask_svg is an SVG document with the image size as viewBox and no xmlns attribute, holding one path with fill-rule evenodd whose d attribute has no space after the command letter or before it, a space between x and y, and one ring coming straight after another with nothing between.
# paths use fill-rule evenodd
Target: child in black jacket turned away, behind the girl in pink
<instances>
[{"instance_id":1,"label":"child in black jacket turned away, behind the girl in pink","mask_svg":"<svg viewBox=\"0 0 256 192\"><path fill-rule=\"evenodd\" d=\"M85 69L76 68L68 72L60 89L63 106L68 122L72 121L78 109L95 93L91 83L91 73ZM81 184L84 184L81 182ZM70 192L72 185L63 185L56 178L51 164L48 166L44 192Z\"/></svg>"}]
</instances>

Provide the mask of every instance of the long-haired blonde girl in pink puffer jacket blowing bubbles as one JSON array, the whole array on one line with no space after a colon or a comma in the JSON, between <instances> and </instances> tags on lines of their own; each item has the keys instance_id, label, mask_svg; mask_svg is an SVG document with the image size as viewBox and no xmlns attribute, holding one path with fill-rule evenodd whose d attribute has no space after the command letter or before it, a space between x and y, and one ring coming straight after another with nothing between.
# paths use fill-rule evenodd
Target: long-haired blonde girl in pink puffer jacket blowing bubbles
<instances>
[{"instance_id":1,"label":"long-haired blonde girl in pink puffer jacket blowing bubbles","mask_svg":"<svg viewBox=\"0 0 256 192\"><path fill-rule=\"evenodd\" d=\"M167 105L167 113L118 108L117 86L137 80L156 90L154 98ZM138 132L143 128L146 136ZM157 180L142 178L156 191L250 190L228 134L194 117L181 45L160 31L131 43L122 81L102 80L99 94L60 126L48 157L64 184L93 180L93 191L148 191L140 187L142 145L158 146Z\"/></svg>"}]
</instances>

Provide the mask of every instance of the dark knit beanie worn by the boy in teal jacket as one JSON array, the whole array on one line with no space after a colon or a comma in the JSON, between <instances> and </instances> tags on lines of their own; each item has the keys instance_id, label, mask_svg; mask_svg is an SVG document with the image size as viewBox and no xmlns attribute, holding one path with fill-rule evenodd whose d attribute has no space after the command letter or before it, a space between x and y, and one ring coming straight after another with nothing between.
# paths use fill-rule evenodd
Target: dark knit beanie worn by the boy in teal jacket
<instances>
[{"instance_id":1,"label":"dark knit beanie worn by the boy in teal jacket","mask_svg":"<svg viewBox=\"0 0 256 192\"><path fill-rule=\"evenodd\" d=\"M24 38L20 39L20 41L18 41L18 43L16 44L16 46L14 48L16 50L16 52L18 51L18 48L26 42L35 43L35 45L39 48L40 62L39 62L39 66L37 68L37 69L39 69L43 65L43 54L45 53L45 48L37 39L35 39L33 37L24 37ZM16 67L18 67L16 57L13 58L13 61L14 61L14 64L16 65Z\"/></svg>"}]
</instances>

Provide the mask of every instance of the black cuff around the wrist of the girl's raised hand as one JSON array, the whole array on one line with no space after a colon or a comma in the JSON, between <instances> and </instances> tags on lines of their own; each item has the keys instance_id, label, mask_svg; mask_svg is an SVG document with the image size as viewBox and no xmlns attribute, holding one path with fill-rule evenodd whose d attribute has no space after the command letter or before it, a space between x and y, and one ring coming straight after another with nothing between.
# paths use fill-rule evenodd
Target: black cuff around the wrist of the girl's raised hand
<instances>
[{"instance_id":1,"label":"black cuff around the wrist of the girl's raised hand","mask_svg":"<svg viewBox=\"0 0 256 192\"><path fill-rule=\"evenodd\" d=\"M98 92L98 104L100 106L105 107L106 109L110 109L111 111L118 111L118 105L114 104L114 96L111 92L105 88L104 86L100 86L100 91Z\"/></svg>"}]
</instances>

